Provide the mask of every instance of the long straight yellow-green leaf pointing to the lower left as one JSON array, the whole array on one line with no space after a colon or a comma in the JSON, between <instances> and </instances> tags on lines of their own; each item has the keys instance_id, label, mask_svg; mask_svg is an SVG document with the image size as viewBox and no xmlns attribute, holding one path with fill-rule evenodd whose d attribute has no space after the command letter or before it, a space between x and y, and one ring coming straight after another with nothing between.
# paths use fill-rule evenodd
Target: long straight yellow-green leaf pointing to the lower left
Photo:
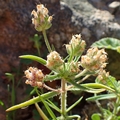
<instances>
[{"instance_id":1,"label":"long straight yellow-green leaf pointing to the lower left","mask_svg":"<svg viewBox=\"0 0 120 120\"><path fill-rule=\"evenodd\" d=\"M41 96L44 98L44 99L48 99L48 98L52 98L54 96L58 95L57 92L48 92L48 93L45 93L45 94L42 94ZM35 98L32 98L28 101L25 101L23 103L20 103L18 105L15 105L15 106L12 106L10 108L8 108L6 111L9 112L9 111L13 111L13 110L16 110L16 109L19 109L19 108L24 108L26 106L29 106L29 105L32 105L32 104L35 104L36 102L41 102L41 99L40 97L35 97Z\"/></svg>"}]
</instances>

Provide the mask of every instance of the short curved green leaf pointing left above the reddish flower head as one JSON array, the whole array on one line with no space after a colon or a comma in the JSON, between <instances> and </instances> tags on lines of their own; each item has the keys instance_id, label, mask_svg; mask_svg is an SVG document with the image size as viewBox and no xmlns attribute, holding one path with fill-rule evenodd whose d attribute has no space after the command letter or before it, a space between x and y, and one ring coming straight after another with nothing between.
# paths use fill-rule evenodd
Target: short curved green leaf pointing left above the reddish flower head
<instances>
[{"instance_id":1,"label":"short curved green leaf pointing left above the reddish flower head","mask_svg":"<svg viewBox=\"0 0 120 120\"><path fill-rule=\"evenodd\" d=\"M19 56L20 58L23 58L23 59L30 59L30 60L34 60L34 61L37 61L43 65L46 65L46 60L41 58L41 57L37 57L37 56L34 56L34 55L22 55L22 56Z\"/></svg>"}]
</instances>

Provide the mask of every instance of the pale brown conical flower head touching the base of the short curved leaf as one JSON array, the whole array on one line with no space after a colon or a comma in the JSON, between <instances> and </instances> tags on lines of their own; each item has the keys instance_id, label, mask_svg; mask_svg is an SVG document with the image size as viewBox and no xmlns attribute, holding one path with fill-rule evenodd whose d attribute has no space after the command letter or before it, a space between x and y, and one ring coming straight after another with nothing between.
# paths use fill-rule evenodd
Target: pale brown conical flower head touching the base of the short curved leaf
<instances>
[{"instance_id":1,"label":"pale brown conical flower head touching the base of the short curved leaf","mask_svg":"<svg viewBox=\"0 0 120 120\"><path fill-rule=\"evenodd\" d=\"M61 65L63 65L64 61L60 57L59 53L56 51L52 51L48 56L47 56L47 64L46 66L50 69L58 69Z\"/></svg>"}]
</instances>

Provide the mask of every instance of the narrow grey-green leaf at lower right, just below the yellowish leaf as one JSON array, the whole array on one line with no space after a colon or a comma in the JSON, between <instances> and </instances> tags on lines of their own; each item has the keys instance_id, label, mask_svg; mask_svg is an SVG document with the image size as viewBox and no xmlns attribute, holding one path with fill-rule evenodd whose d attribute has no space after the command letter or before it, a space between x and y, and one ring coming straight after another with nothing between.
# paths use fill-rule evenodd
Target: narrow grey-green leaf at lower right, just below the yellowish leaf
<instances>
[{"instance_id":1,"label":"narrow grey-green leaf at lower right, just below the yellowish leaf","mask_svg":"<svg viewBox=\"0 0 120 120\"><path fill-rule=\"evenodd\" d=\"M103 94L103 95L97 95L93 97L89 97L86 100L87 101L96 101L96 100L105 100L105 99L112 99L116 98L117 96L115 94Z\"/></svg>"}]
</instances>

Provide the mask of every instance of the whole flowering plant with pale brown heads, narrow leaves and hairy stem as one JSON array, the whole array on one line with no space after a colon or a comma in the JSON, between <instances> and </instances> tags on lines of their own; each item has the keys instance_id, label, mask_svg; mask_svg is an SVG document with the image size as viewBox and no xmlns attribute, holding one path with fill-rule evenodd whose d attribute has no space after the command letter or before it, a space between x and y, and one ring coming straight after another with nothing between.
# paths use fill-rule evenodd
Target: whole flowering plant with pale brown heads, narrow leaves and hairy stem
<instances>
[{"instance_id":1,"label":"whole flowering plant with pale brown heads, narrow leaves and hairy stem","mask_svg":"<svg viewBox=\"0 0 120 120\"><path fill-rule=\"evenodd\" d=\"M113 82L116 81L115 79L113 81L113 78L104 69L107 64L107 53L104 49L99 50L97 47L92 47L87 50L85 55L83 55L86 43L82 40L80 34L76 34L72 36L69 44L65 45L68 56L63 59L58 52L52 50L47 39L46 30L52 25L52 16L48 15L48 9L43 4L40 4L37 5L37 11L33 10L31 14L33 15L32 23L34 24L35 29L43 33L49 54L47 60L34 55L23 55L20 56L20 58L35 60L50 69L51 73L44 75L42 70L38 68L28 68L28 70L25 71L25 76L27 78L25 83L34 87L38 96L21 104L12 106L6 111L12 111L35 104L41 117L44 120L49 120L37 104L38 102L42 102L53 120L80 120L79 115L70 115L69 111L82 100L83 96L71 106L67 106L67 94L69 91L85 91L93 93L95 96L88 98L87 100L94 99L95 101L104 98L103 96L99 96L99 99L97 97L97 94L103 91L108 91L110 93L108 96L111 95L111 98L117 96L117 94L115 94L115 87L113 86ZM96 76L95 83L84 83L90 76ZM60 87L51 88L50 86L47 86L47 81L52 82L55 80L61 80ZM109 80L113 84L108 84ZM46 88L48 92L40 94L38 88ZM61 100L60 108L49 99L57 95L60 96ZM55 109L60 116L56 116L51 108ZM115 117L115 115L116 111L112 118ZM94 119L94 117L92 117L92 119Z\"/></svg>"}]
</instances>

